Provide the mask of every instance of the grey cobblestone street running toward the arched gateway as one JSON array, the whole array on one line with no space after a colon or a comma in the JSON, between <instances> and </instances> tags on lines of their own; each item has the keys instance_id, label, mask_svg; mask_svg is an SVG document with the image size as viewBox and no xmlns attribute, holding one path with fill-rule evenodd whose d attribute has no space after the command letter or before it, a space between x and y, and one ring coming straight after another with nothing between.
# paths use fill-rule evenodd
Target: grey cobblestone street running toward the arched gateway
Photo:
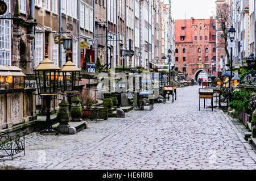
<instances>
[{"instance_id":1,"label":"grey cobblestone street running toward the arched gateway","mask_svg":"<svg viewBox=\"0 0 256 181\"><path fill-rule=\"evenodd\" d=\"M174 103L91 121L71 136L26 136L26 155L0 166L25 169L256 169L256 154L221 110L199 111L199 86ZM203 100L202 100L203 103ZM148 107L145 107L148 109Z\"/></svg>"}]
</instances>

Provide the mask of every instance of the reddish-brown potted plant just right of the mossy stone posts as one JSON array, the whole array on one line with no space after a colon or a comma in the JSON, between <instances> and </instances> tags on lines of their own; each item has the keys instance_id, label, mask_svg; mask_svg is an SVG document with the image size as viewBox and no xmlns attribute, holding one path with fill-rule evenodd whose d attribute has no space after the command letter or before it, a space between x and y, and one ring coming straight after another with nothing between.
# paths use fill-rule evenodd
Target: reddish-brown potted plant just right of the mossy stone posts
<instances>
[{"instance_id":1,"label":"reddish-brown potted plant just right of the mossy stone posts","mask_svg":"<svg viewBox=\"0 0 256 181\"><path fill-rule=\"evenodd\" d=\"M90 95L88 90L85 90L82 93L82 115L83 117L87 118L92 114L92 106L95 103L95 98L93 98L93 96Z\"/></svg>"}]
</instances>

